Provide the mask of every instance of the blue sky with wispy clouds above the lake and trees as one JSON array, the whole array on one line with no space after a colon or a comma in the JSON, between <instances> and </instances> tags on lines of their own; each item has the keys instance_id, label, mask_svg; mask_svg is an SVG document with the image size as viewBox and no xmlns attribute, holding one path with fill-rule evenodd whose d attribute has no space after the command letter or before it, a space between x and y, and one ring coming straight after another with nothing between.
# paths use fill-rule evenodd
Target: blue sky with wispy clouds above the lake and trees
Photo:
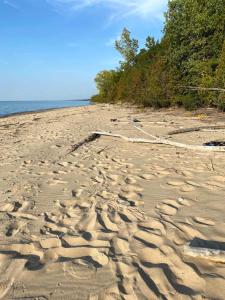
<instances>
[{"instance_id":1,"label":"blue sky with wispy clouds above the lake and trees","mask_svg":"<svg viewBox=\"0 0 225 300\"><path fill-rule=\"evenodd\" d=\"M160 38L167 0L0 0L0 100L89 98L127 27Z\"/></svg>"}]
</instances>

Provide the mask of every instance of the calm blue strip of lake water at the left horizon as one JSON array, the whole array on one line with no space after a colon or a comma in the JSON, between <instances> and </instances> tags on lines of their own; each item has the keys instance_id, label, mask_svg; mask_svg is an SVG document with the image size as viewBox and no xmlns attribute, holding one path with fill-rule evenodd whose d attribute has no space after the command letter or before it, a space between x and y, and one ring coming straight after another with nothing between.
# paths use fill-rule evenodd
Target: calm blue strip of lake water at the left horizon
<instances>
[{"instance_id":1,"label":"calm blue strip of lake water at the left horizon","mask_svg":"<svg viewBox=\"0 0 225 300\"><path fill-rule=\"evenodd\" d=\"M20 112L90 105L86 100L74 101L0 101L0 117Z\"/></svg>"}]
</instances>

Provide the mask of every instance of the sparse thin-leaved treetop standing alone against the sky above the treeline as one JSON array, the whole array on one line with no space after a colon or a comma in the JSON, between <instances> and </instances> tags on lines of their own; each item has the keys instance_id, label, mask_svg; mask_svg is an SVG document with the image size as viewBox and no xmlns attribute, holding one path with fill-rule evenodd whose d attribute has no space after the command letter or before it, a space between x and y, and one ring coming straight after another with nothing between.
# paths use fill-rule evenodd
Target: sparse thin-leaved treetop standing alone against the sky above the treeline
<instances>
[{"instance_id":1,"label":"sparse thin-leaved treetop standing alone against the sky above the treeline","mask_svg":"<svg viewBox=\"0 0 225 300\"><path fill-rule=\"evenodd\" d=\"M127 28L123 29L120 39L115 41L115 48L124 58L124 62L120 62L122 69L134 65L139 48L138 40L131 39Z\"/></svg>"}]
</instances>

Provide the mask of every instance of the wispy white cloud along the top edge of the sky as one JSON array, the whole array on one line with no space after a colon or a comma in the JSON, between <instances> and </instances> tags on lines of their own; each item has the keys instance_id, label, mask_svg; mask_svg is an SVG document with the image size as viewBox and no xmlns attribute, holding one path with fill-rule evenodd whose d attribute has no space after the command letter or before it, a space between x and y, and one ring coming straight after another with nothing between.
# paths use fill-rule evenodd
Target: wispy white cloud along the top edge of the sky
<instances>
[{"instance_id":1,"label":"wispy white cloud along the top edge of the sky","mask_svg":"<svg viewBox=\"0 0 225 300\"><path fill-rule=\"evenodd\" d=\"M111 11L110 18L163 18L167 0L46 0L49 4L72 11L88 7L103 6Z\"/></svg>"}]
</instances>

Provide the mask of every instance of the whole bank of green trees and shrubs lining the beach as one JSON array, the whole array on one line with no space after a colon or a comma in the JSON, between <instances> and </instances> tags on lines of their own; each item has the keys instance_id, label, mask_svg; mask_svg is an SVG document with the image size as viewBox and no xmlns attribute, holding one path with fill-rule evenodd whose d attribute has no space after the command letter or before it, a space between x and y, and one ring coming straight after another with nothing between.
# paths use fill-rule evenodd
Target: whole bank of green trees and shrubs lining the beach
<instances>
[{"instance_id":1,"label":"whole bank of green trees and shrubs lining the beach","mask_svg":"<svg viewBox=\"0 0 225 300\"><path fill-rule=\"evenodd\" d=\"M170 0L163 37L145 48L124 28L115 42L123 61L95 81L93 102L225 111L225 0Z\"/></svg>"}]
</instances>

